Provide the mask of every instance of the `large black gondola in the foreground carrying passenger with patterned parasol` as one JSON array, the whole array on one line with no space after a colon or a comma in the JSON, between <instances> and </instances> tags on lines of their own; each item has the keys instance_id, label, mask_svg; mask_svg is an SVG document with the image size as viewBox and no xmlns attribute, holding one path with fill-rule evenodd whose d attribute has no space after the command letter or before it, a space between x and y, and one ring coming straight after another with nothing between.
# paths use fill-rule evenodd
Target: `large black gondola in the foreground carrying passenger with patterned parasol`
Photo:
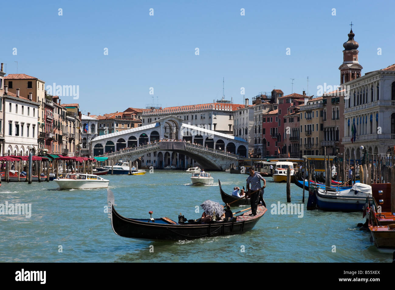
<instances>
[{"instance_id":1,"label":"large black gondola in the foreground carrying passenger with patterned parasol","mask_svg":"<svg viewBox=\"0 0 395 290\"><path fill-rule=\"evenodd\" d=\"M185 239L199 239L204 237L227 236L243 234L256 225L263 214L267 211L264 206L258 206L257 215L249 216L247 211L228 221L216 221L214 223L199 224L172 221L167 217L160 219L129 219L122 217L114 208L114 195L107 189L108 204L111 208L111 226L115 234L133 239L179 241ZM180 219L180 218L179 218Z\"/></svg>"}]
</instances>

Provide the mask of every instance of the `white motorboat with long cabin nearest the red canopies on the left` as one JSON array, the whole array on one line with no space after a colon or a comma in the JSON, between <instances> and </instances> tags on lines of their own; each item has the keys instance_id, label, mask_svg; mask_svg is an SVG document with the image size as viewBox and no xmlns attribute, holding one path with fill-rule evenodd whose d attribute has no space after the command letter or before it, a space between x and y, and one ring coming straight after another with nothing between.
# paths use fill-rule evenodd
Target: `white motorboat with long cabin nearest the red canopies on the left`
<instances>
[{"instance_id":1,"label":"white motorboat with long cabin nearest the red canopies on the left","mask_svg":"<svg viewBox=\"0 0 395 290\"><path fill-rule=\"evenodd\" d=\"M54 179L60 189L107 188L109 180L94 174L67 173Z\"/></svg>"}]
</instances>

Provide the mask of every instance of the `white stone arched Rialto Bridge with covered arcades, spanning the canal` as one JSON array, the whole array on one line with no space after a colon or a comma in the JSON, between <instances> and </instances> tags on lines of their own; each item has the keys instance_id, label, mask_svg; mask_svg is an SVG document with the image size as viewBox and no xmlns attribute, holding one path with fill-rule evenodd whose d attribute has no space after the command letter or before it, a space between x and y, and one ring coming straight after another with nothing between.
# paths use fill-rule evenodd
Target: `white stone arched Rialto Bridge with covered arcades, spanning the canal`
<instances>
[{"instance_id":1,"label":"white stone arched Rialto Bridge with covered arcades, spanning the canal","mask_svg":"<svg viewBox=\"0 0 395 290\"><path fill-rule=\"evenodd\" d=\"M199 163L207 170L237 166L237 159L247 156L246 140L183 122L170 115L149 125L98 136L91 141L93 155L114 162L141 157L141 166L155 168L188 168Z\"/></svg>"}]
</instances>

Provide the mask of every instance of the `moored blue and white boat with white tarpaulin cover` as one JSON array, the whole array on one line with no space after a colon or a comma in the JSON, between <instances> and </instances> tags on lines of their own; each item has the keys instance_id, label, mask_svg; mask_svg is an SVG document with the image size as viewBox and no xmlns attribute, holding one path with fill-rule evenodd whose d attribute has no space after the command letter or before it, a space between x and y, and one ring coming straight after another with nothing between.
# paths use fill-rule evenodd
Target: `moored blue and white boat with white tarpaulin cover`
<instances>
[{"instance_id":1,"label":"moored blue and white boat with white tarpaulin cover","mask_svg":"<svg viewBox=\"0 0 395 290\"><path fill-rule=\"evenodd\" d=\"M359 182L342 191L316 189L316 204L322 210L362 211L367 197L372 199L372 187Z\"/></svg>"}]
</instances>

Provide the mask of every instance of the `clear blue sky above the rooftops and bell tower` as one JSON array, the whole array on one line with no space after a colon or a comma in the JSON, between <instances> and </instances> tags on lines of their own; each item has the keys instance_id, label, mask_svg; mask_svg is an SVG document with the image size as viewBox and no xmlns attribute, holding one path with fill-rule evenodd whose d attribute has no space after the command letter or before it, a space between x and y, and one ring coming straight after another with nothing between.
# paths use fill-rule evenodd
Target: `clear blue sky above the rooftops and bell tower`
<instances>
[{"instance_id":1,"label":"clear blue sky above the rooftops and bell tower","mask_svg":"<svg viewBox=\"0 0 395 290\"><path fill-rule=\"evenodd\" d=\"M291 94L291 78L301 94L307 76L316 95L340 82L351 21L363 74L395 63L394 3L4 1L0 62L16 73L17 61L18 73L46 85L79 85L78 100L61 99L83 114L145 108L150 87L162 107L210 103L222 96L222 77L234 103L241 87L250 100L274 87Z\"/></svg>"}]
</instances>

